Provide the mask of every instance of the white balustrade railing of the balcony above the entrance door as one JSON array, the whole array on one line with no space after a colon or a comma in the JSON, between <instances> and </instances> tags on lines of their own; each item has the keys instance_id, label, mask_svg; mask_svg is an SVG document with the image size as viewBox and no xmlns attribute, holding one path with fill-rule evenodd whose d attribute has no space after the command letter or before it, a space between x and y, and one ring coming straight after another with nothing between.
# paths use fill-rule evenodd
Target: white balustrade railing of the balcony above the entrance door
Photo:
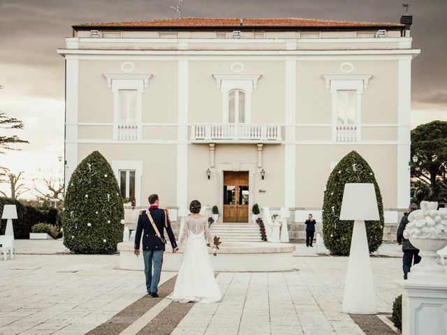
<instances>
[{"instance_id":1,"label":"white balustrade railing of the balcony above the entrance door","mask_svg":"<svg viewBox=\"0 0 447 335\"><path fill-rule=\"evenodd\" d=\"M282 140L279 124L193 124L192 141L253 141Z\"/></svg>"}]
</instances>

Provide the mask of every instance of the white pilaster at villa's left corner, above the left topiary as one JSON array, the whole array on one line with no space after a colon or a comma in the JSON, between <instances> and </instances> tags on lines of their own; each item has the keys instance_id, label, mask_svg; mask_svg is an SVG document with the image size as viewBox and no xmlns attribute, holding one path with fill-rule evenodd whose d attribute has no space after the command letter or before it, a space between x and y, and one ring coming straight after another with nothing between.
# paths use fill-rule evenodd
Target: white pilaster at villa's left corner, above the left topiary
<instances>
[{"instance_id":1,"label":"white pilaster at villa's left corner, above the left topiary","mask_svg":"<svg viewBox=\"0 0 447 335\"><path fill-rule=\"evenodd\" d=\"M77 56L66 56L65 96L65 188L71 174L78 166L78 90L79 60Z\"/></svg>"}]
</instances>

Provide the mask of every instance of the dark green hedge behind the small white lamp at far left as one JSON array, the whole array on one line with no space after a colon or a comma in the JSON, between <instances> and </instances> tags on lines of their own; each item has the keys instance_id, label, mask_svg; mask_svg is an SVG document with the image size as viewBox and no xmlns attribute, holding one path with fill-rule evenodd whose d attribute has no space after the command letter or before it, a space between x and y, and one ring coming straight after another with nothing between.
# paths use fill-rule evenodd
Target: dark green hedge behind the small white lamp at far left
<instances>
[{"instance_id":1,"label":"dark green hedge behind the small white lamp at far left","mask_svg":"<svg viewBox=\"0 0 447 335\"><path fill-rule=\"evenodd\" d=\"M57 209L38 209L29 204L22 204L19 200L0 198L0 214L3 213L5 204L15 204L17 207L17 220L13 220L15 239L29 239L31 227L39 222L48 222L60 226L60 218ZM1 220L0 233L4 234L6 220Z\"/></svg>"}]
</instances>

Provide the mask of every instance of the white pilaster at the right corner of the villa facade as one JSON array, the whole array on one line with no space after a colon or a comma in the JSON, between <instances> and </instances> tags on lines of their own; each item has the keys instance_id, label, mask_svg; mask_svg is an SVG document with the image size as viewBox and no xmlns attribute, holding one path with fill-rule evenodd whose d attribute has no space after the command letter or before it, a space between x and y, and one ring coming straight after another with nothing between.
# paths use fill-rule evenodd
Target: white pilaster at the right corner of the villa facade
<instances>
[{"instance_id":1,"label":"white pilaster at the right corner of the villa facade","mask_svg":"<svg viewBox=\"0 0 447 335\"><path fill-rule=\"evenodd\" d=\"M399 61L397 89L397 208L410 202L411 58Z\"/></svg>"}]
</instances>

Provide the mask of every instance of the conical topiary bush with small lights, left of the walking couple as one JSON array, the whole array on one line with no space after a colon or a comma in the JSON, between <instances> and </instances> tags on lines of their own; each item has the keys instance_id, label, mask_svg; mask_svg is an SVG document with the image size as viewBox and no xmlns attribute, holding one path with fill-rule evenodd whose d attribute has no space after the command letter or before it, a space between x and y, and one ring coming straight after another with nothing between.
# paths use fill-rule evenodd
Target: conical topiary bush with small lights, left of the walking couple
<instances>
[{"instance_id":1,"label":"conical topiary bush with small lights, left of the walking couple","mask_svg":"<svg viewBox=\"0 0 447 335\"><path fill-rule=\"evenodd\" d=\"M64 246L73 253L116 253L124 206L115 174L98 151L71 175L62 214Z\"/></svg>"}]
</instances>

